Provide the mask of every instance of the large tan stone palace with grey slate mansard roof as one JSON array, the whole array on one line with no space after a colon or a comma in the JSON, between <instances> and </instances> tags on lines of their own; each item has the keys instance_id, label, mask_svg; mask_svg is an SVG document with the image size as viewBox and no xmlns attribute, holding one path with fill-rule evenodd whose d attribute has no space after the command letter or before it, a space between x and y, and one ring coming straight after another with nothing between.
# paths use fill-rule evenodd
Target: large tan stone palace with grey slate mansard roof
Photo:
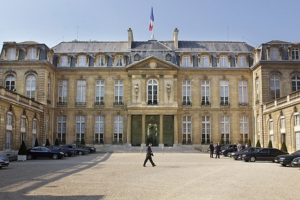
<instances>
[{"instance_id":1,"label":"large tan stone palace with grey slate mansard roof","mask_svg":"<svg viewBox=\"0 0 300 200\"><path fill-rule=\"evenodd\" d=\"M300 43L4 42L0 154L46 139L107 146L183 146L259 139L299 149ZM284 122L283 122L284 121ZM283 125L284 124L284 125Z\"/></svg>"}]
</instances>

